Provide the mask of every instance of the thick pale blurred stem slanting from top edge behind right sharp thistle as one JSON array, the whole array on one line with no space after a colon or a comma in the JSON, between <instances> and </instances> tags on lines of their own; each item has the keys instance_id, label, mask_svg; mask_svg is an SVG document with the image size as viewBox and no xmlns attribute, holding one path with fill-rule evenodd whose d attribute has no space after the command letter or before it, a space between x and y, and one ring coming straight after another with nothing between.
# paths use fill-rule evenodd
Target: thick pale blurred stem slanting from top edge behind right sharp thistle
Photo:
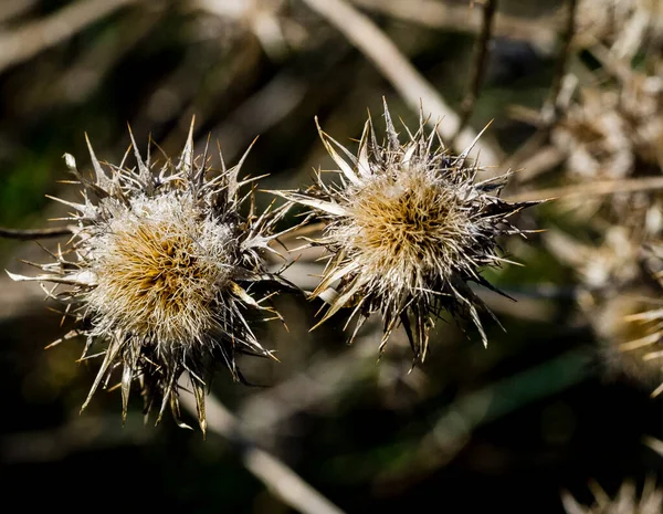
<instances>
[{"instance_id":1,"label":"thick pale blurred stem slanting from top edge behind right sharp thistle","mask_svg":"<svg viewBox=\"0 0 663 514\"><path fill-rule=\"evenodd\" d=\"M368 17L344 0L303 0L311 9L324 17L350 43L378 67L393 85L406 103L419 112L421 105L430 109L431 126L436 126L442 139L450 140L460 126L459 116L446 105L440 93L406 59L393 42ZM462 150L474 146L484 162L499 162L501 151L485 140L475 140L476 134L469 128L462 130L456 143Z\"/></svg>"}]
</instances>

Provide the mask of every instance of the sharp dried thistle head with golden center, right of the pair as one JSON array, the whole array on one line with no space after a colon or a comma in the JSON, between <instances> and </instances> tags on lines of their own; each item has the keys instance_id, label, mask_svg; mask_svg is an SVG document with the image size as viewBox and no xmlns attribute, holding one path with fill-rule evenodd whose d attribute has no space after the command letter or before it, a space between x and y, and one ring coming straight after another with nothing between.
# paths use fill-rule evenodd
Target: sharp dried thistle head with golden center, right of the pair
<instances>
[{"instance_id":1,"label":"sharp dried thistle head with golden center, right of the pair","mask_svg":"<svg viewBox=\"0 0 663 514\"><path fill-rule=\"evenodd\" d=\"M429 331L446 310L472 319L485 344L478 313L487 308L469 283L491 287L482 268L504 261L497 238L522 233L508 218L534 202L501 200L506 176L477 181L481 169L467 157L470 149L452 156L436 129L427 134L423 116L414 134L406 127L404 144L387 103L385 120L387 138L379 144L369 115L356 157L318 126L340 183L327 186L318 171L311 188L277 192L326 221L322 239L311 242L329 254L312 294L328 303L320 323L351 307L351 342L370 314L380 312L380 352L402 324L414 360L423 360Z\"/></svg>"}]
</instances>

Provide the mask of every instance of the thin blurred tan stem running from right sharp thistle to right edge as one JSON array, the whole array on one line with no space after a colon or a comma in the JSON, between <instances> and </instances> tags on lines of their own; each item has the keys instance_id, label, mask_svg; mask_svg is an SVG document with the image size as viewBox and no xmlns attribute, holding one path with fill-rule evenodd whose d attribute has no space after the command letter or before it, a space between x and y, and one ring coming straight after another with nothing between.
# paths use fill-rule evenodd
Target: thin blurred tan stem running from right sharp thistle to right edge
<instances>
[{"instance_id":1,"label":"thin blurred tan stem running from right sharp thistle to right edge","mask_svg":"<svg viewBox=\"0 0 663 514\"><path fill-rule=\"evenodd\" d=\"M558 188L539 189L538 191L524 191L508 195L507 201L561 199L577 196L602 196L621 192L649 191L663 189L663 177L645 177L629 180L601 180L590 183L578 183Z\"/></svg>"}]
</instances>

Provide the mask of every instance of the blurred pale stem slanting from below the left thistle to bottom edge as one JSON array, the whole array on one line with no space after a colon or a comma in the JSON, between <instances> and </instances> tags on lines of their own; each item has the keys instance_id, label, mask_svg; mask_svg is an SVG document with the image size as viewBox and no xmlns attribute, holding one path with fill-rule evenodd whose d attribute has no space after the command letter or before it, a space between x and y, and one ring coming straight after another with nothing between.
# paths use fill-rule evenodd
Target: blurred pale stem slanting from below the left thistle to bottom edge
<instances>
[{"instance_id":1,"label":"blurred pale stem slanting from below the left thistle to bottom edge","mask_svg":"<svg viewBox=\"0 0 663 514\"><path fill-rule=\"evenodd\" d=\"M180 379L182 387L188 380ZM198 416L193 395L182 394L182 406ZM244 466L286 505L304 514L343 514L343 511L307 484L291 468L285 465L255 441L244 434L241 421L223 407L213 396L206 405L208 431L225 438L241 454Z\"/></svg>"}]
</instances>

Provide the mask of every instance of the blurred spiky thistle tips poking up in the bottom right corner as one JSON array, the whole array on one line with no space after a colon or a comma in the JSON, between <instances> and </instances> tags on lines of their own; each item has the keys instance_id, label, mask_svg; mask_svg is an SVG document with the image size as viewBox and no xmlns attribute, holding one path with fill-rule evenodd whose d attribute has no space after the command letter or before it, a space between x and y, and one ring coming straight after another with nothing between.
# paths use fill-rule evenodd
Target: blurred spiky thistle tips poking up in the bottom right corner
<instances>
[{"instance_id":1,"label":"blurred spiky thistle tips poking up in the bottom right corner","mask_svg":"<svg viewBox=\"0 0 663 514\"><path fill-rule=\"evenodd\" d=\"M633 482L625 481L614 499L598 483L592 482L590 486L594 496L591 506L580 505L570 493L562 493L567 514L660 514L663 511L663 490L656 487L655 480L651 478L644 482L641 494Z\"/></svg>"}]
</instances>

